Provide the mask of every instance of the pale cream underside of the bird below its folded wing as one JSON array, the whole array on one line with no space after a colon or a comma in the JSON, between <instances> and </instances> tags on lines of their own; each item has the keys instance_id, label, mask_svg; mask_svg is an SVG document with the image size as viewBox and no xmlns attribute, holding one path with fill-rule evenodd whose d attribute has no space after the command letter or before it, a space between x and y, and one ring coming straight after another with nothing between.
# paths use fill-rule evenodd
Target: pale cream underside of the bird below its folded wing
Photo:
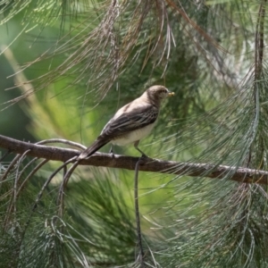
<instances>
[{"instance_id":1,"label":"pale cream underside of the bird below its folded wing","mask_svg":"<svg viewBox=\"0 0 268 268\"><path fill-rule=\"evenodd\" d=\"M133 143L141 138L147 137L147 135L153 130L155 123L149 124L144 128L138 130L132 130L120 137L114 138L112 143L118 146L125 146Z\"/></svg>"}]
</instances>

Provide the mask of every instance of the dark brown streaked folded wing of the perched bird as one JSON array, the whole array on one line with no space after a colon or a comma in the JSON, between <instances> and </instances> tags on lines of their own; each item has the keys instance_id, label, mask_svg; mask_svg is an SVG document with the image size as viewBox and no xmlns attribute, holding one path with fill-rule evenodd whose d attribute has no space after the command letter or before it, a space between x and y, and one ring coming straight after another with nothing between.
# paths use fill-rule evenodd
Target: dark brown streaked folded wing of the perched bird
<instances>
[{"instance_id":1,"label":"dark brown streaked folded wing of the perched bird","mask_svg":"<svg viewBox=\"0 0 268 268\"><path fill-rule=\"evenodd\" d=\"M158 109L154 105L142 105L130 111L126 110L120 116L112 118L105 125L99 137L121 136L129 131L138 130L155 122L158 117ZM110 140L111 140L110 139Z\"/></svg>"}]
</instances>

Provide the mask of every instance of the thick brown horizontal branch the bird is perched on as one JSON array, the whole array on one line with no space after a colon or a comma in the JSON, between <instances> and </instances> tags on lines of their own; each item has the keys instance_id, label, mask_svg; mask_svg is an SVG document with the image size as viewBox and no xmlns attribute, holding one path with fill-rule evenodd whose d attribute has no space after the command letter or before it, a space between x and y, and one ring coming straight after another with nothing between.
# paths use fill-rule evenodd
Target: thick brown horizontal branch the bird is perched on
<instances>
[{"instance_id":1,"label":"thick brown horizontal branch the bird is perched on","mask_svg":"<svg viewBox=\"0 0 268 268\"><path fill-rule=\"evenodd\" d=\"M7 138L2 135L0 135L0 147L15 154L23 154L26 151L29 151L27 155L62 162L66 162L72 157L80 155L79 150L37 145L13 138ZM138 157L132 156L96 153L87 160L82 160L80 164L134 171L138 159ZM182 163L144 158L139 165L139 170L142 172L160 172L213 179L228 178L240 182L268 184L268 172L227 165L216 166L211 163Z\"/></svg>"}]
</instances>

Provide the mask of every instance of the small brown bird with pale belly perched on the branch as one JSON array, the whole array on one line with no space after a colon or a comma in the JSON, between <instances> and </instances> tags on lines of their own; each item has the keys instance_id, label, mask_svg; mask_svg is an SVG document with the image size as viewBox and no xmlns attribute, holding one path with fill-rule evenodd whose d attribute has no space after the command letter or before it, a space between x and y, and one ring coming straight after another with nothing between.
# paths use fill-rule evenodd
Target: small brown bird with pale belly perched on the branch
<instances>
[{"instance_id":1,"label":"small brown bird with pale belly perched on the branch","mask_svg":"<svg viewBox=\"0 0 268 268\"><path fill-rule=\"evenodd\" d=\"M83 151L77 160L88 158L109 142L118 146L125 146L133 142L138 152L146 156L138 148L138 142L154 128L163 99L173 95L173 92L163 86L148 88L142 96L130 104L124 105L114 114L96 141ZM113 146L110 152L113 152Z\"/></svg>"}]
</instances>

